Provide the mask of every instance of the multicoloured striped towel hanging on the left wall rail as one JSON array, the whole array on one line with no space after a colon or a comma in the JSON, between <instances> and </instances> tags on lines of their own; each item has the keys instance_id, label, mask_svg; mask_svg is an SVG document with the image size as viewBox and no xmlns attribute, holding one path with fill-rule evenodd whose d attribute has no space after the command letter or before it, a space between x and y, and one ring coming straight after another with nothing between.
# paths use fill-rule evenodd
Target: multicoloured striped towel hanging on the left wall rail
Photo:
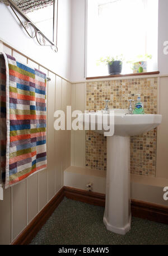
<instances>
[{"instance_id":1,"label":"multicoloured striped towel hanging on the left wall rail","mask_svg":"<svg viewBox=\"0 0 168 256\"><path fill-rule=\"evenodd\" d=\"M46 168L46 75L0 56L1 180L8 188Z\"/></svg>"}]
</instances>

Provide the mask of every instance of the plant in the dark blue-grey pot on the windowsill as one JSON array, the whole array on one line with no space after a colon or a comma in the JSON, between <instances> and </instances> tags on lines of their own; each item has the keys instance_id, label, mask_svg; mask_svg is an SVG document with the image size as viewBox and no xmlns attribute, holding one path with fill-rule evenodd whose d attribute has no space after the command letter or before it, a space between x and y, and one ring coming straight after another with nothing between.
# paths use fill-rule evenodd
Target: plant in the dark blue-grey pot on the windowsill
<instances>
[{"instance_id":1,"label":"plant in the dark blue-grey pot on the windowsill","mask_svg":"<svg viewBox=\"0 0 168 256\"><path fill-rule=\"evenodd\" d=\"M100 58L99 63L105 63L108 65L109 75L119 75L122 73L122 66L123 66L123 55L118 55L116 57L106 57Z\"/></svg>"}]
</instances>

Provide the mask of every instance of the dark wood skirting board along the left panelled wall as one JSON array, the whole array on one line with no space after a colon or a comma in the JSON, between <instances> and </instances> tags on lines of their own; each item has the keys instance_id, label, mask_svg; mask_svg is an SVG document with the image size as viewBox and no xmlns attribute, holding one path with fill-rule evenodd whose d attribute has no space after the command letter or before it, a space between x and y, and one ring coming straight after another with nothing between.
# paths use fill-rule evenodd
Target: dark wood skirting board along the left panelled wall
<instances>
[{"instance_id":1,"label":"dark wood skirting board along the left panelled wall","mask_svg":"<svg viewBox=\"0 0 168 256\"><path fill-rule=\"evenodd\" d=\"M12 242L12 245L26 245L36 236L41 227L48 220L50 215L57 208L58 204L62 202L64 198L64 188L49 201L48 204L38 213L38 215L26 226L20 235Z\"/></svg>"}]
</instances>

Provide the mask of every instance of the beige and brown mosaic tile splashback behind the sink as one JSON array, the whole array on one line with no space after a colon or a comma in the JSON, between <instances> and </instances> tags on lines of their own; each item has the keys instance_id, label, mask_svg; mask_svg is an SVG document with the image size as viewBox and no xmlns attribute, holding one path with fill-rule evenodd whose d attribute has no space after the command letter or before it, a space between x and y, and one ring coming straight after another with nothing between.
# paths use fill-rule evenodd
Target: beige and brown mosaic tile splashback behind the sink
<instances>
[{"instance_id":1,"label":"beige and brown mosaic tile splashback behind the sink","mask_svg":"<svg viewBox=\"0 0 168 256\"><path fill-rule=\"evenodd\" d=\"M146 114L157 114L157 78L96 81L86 83L86 110L100 110L104 100L109 108L128 109L128 100L141 94ZM130 138L130 173L155 176L157 130ZM91 169L106 170L106 137L86 131L85 164Z\"/></svg>"}]
</instances>

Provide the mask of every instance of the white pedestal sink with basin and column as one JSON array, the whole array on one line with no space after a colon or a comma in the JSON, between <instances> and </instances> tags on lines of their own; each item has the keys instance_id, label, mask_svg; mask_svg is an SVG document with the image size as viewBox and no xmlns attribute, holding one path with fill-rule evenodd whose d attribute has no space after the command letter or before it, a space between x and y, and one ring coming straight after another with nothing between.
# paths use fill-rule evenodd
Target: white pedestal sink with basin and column
<instances>
[{"instance_id":1,"label":"white pedestal sink with basin and column","mask_svg":"<svg viewBox=\"0 0 168 256\"><path fill-rule=\"evenodd\" d=\"M162 116L154 114L130 115L128 110L115 109L114 135L107 136L107 174L104 224L106 229L126 234L130 230L130 136L148 132L161 123ZM82 114L80 122L92 124L92 115L97 118L101 112ZM126 115L125 115L126 114ZM102 115L108 115L103 113ZM88 120L84 120L88 119ZM95 129L104 134L104 129Z\"/></svg>"}]
</instances>

